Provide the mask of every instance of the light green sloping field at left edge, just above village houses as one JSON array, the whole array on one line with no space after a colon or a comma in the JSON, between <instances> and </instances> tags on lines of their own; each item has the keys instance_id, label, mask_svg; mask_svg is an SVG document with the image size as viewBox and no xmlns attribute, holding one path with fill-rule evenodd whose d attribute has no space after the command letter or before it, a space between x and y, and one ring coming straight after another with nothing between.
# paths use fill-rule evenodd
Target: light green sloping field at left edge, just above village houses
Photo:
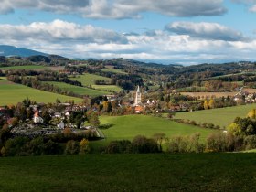
<instances>
[{"instance_id":1,"label":"light green sloping field at left edge, just above village houses","mask_svg":"<svg viewBox=\"0 0 256 192\"><path fill-rule=\"evenodd\" d=\"M79 98L68 97L47 91L39 91L7 80L0 80L0 105L16 104L27 97L37 102L55 102L57 98L59 98L60 101L82 101Z\"/></svg>"}]
</instances>

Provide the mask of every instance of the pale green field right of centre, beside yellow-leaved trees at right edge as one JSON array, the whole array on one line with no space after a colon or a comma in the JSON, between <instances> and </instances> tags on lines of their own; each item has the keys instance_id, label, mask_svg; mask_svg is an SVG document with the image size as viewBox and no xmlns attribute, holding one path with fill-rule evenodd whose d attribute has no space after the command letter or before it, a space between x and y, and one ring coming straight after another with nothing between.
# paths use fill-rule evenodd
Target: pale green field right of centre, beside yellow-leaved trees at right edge
<instances>
[{"instance_id":1,"label":"pale green field right of centre, beside yellow-leaved trees at right edge","mask_svg":"<svg viewBox=\"0 0 256 192\"><path fill-rule=\"evenodd\" d=\"M232 123L236 117L246 117L247 113L256 108L256 104L240 105L213 110L203 110L197 112L177 112L176 119L194 120L197 123L214 123L223 127Z\"/></svg>"}]
</instances>

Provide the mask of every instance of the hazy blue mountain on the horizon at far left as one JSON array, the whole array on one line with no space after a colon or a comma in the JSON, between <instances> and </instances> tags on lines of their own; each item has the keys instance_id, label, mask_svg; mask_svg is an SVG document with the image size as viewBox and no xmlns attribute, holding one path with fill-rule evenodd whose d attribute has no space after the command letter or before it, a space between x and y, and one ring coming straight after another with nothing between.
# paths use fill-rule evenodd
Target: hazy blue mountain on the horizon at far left
<instances>
[{"instance_id":1,"label":"hazy blue mountain on the horizon at far left","mask_svg":"<svg viewBox=\"0 0 256 192\"><path fill-rule=\"evenodd\" d=\"M27 48L16 48L14 46L0 45L0 56L20 56L20 57L30 57L30 56L48 56L47 53L42 53L36 50L31 50Z\"/></svg>"}]
</instances>

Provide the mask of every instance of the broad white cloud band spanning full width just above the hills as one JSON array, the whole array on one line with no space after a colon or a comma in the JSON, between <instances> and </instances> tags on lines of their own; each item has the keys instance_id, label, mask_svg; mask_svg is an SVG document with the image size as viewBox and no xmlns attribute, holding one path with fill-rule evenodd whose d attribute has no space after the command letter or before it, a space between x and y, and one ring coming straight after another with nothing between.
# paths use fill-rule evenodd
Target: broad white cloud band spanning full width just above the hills
<instances>
[{"instance_id":1,"label":"broad white cloud band spanning full width just above the hills","mask_svg":"<svg viewBox=\"0 0 256 192\"><path fill-rule=\"evenodd\" d=\"M120 34L61 20L27 26L0 25L0 44L32 48L69 58L126 58L164 63L255 60L256 40L192 37L156 30Z\"/></svg>"}]
</instances>

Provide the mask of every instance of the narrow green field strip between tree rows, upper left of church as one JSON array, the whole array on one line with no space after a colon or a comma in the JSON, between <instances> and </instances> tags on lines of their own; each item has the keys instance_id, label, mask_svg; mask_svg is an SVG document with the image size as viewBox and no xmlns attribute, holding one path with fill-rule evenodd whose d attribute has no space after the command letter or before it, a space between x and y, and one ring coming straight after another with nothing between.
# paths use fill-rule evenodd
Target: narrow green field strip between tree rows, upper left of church
<instances>
[{"instance_id":1,"label":"narrow green field strip between tree rows, upper left of church","mask_svg":"<svg viewBox=\"0 0 256 192\"><path fill-rule=\"evenodd\" d=\"M107 91L92 90L92 89L85 88L85 87L70 85L70 84L67 84L65 82L48 81L48 84L52 84L52 85L57 86L57 87L59 87L60 89L63 89L63 90L73 91L74 93L79 94L79 95L89 95L91 97L110 94Z\"/></svg>"}]
</instances>

